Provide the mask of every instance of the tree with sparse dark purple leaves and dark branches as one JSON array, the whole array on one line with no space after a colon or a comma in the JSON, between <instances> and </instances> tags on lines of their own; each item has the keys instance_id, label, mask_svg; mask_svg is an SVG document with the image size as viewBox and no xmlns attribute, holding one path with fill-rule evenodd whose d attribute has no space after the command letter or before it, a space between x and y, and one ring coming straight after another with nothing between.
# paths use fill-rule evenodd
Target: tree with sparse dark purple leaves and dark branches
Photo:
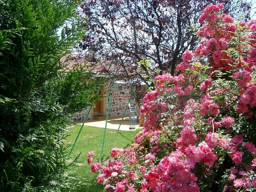
<instances>
[{"instance_id":1,"label":"tree with sparse dark purple leaves and dark branches","mask_svg":"<svg viewBox=\"0 0 256 192\"><path fill-rule=\"evenodd\" d=\"M195 48L198 17L211 3L223 3L224 12L243 15L240 20L250 19L250 4L241 0L84 1L79 14L87 18L88 30L79 48L134 64L148 59L149 72L159 69L159 74L166 70L174 75L182 53Z\"/></svg>"}]
</instances>

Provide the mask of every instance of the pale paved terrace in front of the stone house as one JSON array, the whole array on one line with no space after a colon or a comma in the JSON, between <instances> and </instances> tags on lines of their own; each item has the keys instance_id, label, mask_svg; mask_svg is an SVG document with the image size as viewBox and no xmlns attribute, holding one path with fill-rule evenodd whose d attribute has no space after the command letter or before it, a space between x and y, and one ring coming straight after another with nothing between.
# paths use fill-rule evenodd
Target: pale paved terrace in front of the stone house
<instances>
[{"instance_id":1,"label":"pale paved terrace in front of the stone house","mask_svg":"<svg viewBox=\"0 0 256 192\"><path fill-rule=\"evenodd\" d=\"M122 120L122 116L121 117L108 117L108 123L107 123L107 129L118 129L119 124ZM82 125L83 121L75 121L74 124L79 124ZM100 121L100 120L86 120L84 125L85 126L92 126L92 127L101 127L101 128L105 128L105 124L106 124L106 120ZM133 123L132 123L133 125ZM140 126L139 122L136 122L135 124L135 129L138 129ZM129 129L130 127L130 122L129 122L129 117L124 117L124 120L120 126L119 130L123 130L123 131L131 131L134 129Z\"/></svg>"}]
</instances>

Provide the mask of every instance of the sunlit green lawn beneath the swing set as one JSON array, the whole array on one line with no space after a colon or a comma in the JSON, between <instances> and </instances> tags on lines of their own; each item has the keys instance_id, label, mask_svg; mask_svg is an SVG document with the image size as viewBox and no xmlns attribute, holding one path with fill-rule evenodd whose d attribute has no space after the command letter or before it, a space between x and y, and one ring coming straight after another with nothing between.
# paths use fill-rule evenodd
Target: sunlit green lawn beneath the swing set
<instances>
[{"instance_id":1,"label":"sunlit green lawn beneath the swing set","mask_svg":"<svg viewBox=\"0 0 256 192\"><path fill-rule=\"evenodd\" d=\"M69 132L68 143L72 144L76 138L76 135L81 125L75 125L72 132ZM134 142L133 137L139 130L135 131L119 131L107 129L103 157L109 158L110 150L112 148L129 148L130 144ZM100 151L103 139L103 128L84 126L78 140L76 141L75 148L73 149L70 158L75 159L80 153L80 157L77 163L80 166L72 167L71 176L80 176L87 179L88 185L83 185L77 192L101 192L103 186L96 182L97 172L94 174L90 171L90 166L87 164L87 153L89 151L95 151L96 156L100 157ZM86 182L84 182L85 184Z\"/></svg>"}]
</instances>

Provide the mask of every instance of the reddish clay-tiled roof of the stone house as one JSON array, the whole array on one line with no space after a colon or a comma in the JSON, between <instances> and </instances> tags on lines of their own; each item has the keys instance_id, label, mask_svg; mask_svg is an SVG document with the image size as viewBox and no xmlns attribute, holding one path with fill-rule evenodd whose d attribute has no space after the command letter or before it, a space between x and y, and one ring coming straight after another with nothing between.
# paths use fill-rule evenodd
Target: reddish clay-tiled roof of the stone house
<instances>
[{"instance_id":1,"label":"reddish clay-tiled roof of the stone house","mask_svg":"<svg viewBox=\"0 0 256 192\"><path fill-rule=\"evenodd\" d=\"M60 62L65 65L65 71L72 70L75 66L84 65L88 69L88 72L92 72L94 75L110 75L113 76L114 71L116 76L127 76L124 72L124 68L121 65L120 61L111 61L111 60L104 60L99 59L96 61L91 61L91 59L86 55L80 54L68 54L63 56L60 59ZM109 68L110 64L112 63L111 67ZM123 63L125 69L128 73L128 76L132 76L138 71L137 66L133 66L129 63ZM109 70L108 70L109 68ZM116 69L115 69L116 68Z\"/></svg>"}]
</instances>

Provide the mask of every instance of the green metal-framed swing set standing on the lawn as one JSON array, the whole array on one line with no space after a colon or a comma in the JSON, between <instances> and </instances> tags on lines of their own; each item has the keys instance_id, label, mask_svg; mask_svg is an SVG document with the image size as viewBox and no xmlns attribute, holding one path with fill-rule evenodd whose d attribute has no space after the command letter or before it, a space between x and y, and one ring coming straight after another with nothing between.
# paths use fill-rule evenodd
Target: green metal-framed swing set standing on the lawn
<instances>
[{"instance_id":1,"label":"green metal-framed swing set standing on the lawn","mask_svg":"<svg viewBox=\"0 0 256 192\"><path fill-rule=\"evenodd\" d=\"M112 66L112 64L113 64L113 63L111 62L110 65L109 65L109 67L108 67L108 70L107 70L107 71L109 71L109 69L110 69L110 67ZM121 66L123 67L125 74L128 76L127 70L125 69L123 62L121 62ZM116 63L115 63L115 65L114 65L113 77L112 77L112 81L111 81L111 84L110 84L110 89L111 89L111 90L113 89L113 85L114 85L114 83L115 83L115 74L116 74ZM105 75L103 76L103 81L105 80L106 77L107 77L107 73L105 73ZM132 87L132 83L130 82L130 80L129 80L129 84L130 84L130 86L131 86L131 94L130 94L130 95L112 95L111 92L110 92L110 94L109 94L108 110L107 110L107 114L106 114L106 124L105 124L105 128L104 128L104 134L103 134L103 140L102 140L102 146L101 146L101 152L100 152L100 162L101 162L102 156L103 156L103 149L104 149L104 143L105 143L105 137L106 137L106 131L107 131L107 123L108 123L108 115L109 115L110 101L111 101L111 97L112 97L112 96L113 96L113 97L129 97L128 103L127 103L127 105L126 105L126 107L125 107L125 109L124 109L124 113L123 113L123 116L122 116L122 120L121 120L121 122L120 122L120 124L119 124L119 127L118 127L118 130L117 130L117 131L119 131L119 129L120 129L120 126L121 126L121 124L122 124L122 122L123 122L123 120L124 120L124 116L125 116L125 114L126 114L127 109L129 109L129 124L130 124L129 129L135 129L135 124L136 124L136 121L137 121L137 117L135 117L135 116L136 116L136 94L135 94L135 92L134 92L134 89L133 89L133 87ZM98 88L98 90L97 90L97 92L96 92L96 96L99 95L100 89L101 89L101 86ZM134 96L133 96L133 95L134 95ZM70 157L70 154L71 154L72 150L74 149L74 147L75 147L75 145L76 145L76 141L77 141L77 139L78 139L78 137L79 137L79 135L80 135L80 133L81 133L83 127L84 127L84 123L85 123L87 117L89 116L89 113L90 113L92 107L93 107L93 103L91 104L89 110L87 111L86 116L85 116L85 118L84 118L84 122L83 122L83 124L81 125L81 128L80 128L79 132L77 133L76 139L75 139L75 141L74 141L74 143L73 143L73 145L72 145L72 147L71 147L71 149L70 149L70 152L68 153L68 159L69 159L69 157Z\"/></svg>"}]
</instances>

